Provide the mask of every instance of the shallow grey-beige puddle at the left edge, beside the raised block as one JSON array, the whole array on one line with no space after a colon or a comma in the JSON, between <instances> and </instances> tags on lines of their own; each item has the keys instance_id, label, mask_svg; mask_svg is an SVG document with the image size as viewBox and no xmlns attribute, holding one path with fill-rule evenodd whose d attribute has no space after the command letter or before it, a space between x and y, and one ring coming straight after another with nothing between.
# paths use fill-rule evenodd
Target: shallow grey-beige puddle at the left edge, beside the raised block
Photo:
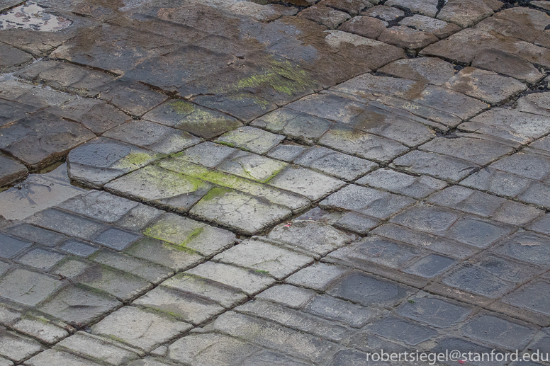
<instances>
[{"instance_id":1,"label":"shallow grey-beige puddle at the left edge, beside the raised block","mask_svg":"<svg viewBox=\"0 0 550 366\"><path fill-rule=\"evenodd\" d=\"M62 163L48 173L30 174L25 181L0 192L0 215L8 220L25 219L84 192L71 185L67 164Z\"/></svg>"}]
</instances>

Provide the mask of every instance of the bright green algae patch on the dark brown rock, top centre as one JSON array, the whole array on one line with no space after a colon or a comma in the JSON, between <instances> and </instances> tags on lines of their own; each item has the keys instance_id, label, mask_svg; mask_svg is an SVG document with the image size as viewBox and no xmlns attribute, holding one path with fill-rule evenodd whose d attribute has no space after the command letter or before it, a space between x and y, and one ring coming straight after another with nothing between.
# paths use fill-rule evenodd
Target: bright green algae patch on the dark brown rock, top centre
<instances>
[{"instance_id":1,"label":"bright green algae patch on the dark brown rock, top centre","mask_svg":"<svg viewBox=\"0 0 550 366\"><path fill-rule=\"evenodd\" d=\"M277 93L292 96L315 88L317 82L311 79L307 70L288 59L271 59L262 72L252 74L227 86L221 92L244 91L250 88L272 88Z\"/></svg>"}]
</instances>

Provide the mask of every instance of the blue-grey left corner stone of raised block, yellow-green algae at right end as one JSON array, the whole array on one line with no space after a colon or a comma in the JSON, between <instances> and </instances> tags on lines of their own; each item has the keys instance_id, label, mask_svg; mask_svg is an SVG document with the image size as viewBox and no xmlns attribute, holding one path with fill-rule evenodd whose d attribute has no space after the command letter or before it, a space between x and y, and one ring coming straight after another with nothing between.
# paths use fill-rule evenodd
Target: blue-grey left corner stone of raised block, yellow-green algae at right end
<instances>
[{"instance_id":1,"label":"blue-grey left corner stone of raised block, yellow-green algae at right end","mask_svg":"<svg viewBox=\"0 0 550 366\"><path fill-rule=\"evenodd\" d=\"M160 155L125 142L99 137L67 156L69 177L94 188L159 159Z\"/></svg>"}]
</instances>

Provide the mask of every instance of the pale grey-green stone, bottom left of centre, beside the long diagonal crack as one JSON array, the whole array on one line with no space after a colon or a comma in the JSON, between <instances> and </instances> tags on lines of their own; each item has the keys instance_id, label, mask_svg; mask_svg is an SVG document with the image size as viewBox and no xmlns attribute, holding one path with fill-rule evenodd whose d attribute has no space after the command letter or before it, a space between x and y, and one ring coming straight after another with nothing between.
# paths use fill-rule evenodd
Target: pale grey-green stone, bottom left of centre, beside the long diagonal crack
<instances>
[{"instance_id":1,"label":"pale grey-green stone, bottom left of centre, beside the long diagonal crack","mask_svg":"<svg viewBox=\"0 0 550 366\"><path fill-rule=\"evenodd\" d=\"M135 300L133 304L156 309L193 324L202 323L225 311L223 307L215 302L165 287L156 287Z\"/></svg>"}]
</instances>

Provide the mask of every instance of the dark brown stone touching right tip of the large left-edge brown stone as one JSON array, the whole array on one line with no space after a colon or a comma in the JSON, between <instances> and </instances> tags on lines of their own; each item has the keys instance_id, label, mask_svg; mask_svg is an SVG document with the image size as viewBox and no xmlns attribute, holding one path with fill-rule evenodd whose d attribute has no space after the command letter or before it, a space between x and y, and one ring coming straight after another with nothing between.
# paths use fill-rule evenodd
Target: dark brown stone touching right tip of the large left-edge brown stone
<instances>
[{"instance_id":1,"label":"dark brown stone touching right tip of the large left-edge brown stone","mask_svg":"<svg viewBox=\"0 0 550 366\"><path fill-rule=\"evenodd\" d=\"M80 99L63 105L55 105L47 108L46 111L67 120L82 123L96 135L101 135L103 132L131 120L128 115L114 108L113 105L95 99Z\"/></svg>"}]
</instances>

